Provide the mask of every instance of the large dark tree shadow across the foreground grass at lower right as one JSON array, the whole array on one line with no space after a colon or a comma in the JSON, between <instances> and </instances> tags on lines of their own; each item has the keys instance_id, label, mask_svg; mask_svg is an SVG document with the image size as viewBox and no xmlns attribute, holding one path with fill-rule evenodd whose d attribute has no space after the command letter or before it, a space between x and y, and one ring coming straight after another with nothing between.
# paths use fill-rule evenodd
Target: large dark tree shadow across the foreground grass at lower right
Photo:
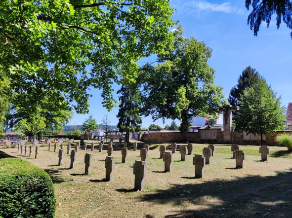
<instances>
[{"instance_id":1,"label":"large dark tree shadow across the foreground grass at lower right","mask_svg":"<svg viewBox=\"0 0 292 218\"><path fill-rule=\"evenodd\" d=\"M140 201L173 206L192 205L176 210L168 218L182 217L268 217L290 218L292 214L292 168L276 176L246 176L202 183L172 184L168 189L144 193Z\"/></svg>"}]
</instances>

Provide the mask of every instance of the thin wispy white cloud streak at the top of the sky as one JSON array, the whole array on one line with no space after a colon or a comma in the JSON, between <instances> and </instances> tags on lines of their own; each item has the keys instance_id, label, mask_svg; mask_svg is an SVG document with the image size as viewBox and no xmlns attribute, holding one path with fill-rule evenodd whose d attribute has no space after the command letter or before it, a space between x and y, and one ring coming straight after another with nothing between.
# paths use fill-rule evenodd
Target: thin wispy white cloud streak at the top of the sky
<instances>
[{"instance_id":1,"label":"thin wispy white cloud streak at the top of the sky","mask_svg":"<svg viewBox=\"0 0 292 218\"><path fill-rule=\"evenodd\" d=\"M243 14L242 9L232 6L230 2L223 3L211 3L205 0L186 0L177 1L174 3L174 7L178 12L222 12L222 13L235 13Z\"/></svg>"}]
</instances>

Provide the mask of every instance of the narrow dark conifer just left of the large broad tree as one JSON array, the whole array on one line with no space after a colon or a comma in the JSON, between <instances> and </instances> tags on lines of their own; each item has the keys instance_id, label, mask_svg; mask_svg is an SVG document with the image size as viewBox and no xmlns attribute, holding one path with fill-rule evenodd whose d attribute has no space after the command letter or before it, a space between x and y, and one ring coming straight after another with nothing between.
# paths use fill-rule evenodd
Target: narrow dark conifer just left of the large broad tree
<instances>
[{"instance_id":1,"label":"narrow dark conifer just left of the large broad tree","mask_svg":"<svg viewBox=\"0 0 292 218\"><path fill-rule=\"evenodd\" d=\"M141 109L141 98L138 86L131 84L128 87L122 86L118 91L120 105L118 128L121 133L126 132L125 142L129 142L129 133L135 133L140 130L142 119L139 115Z\"/></svg>"}]
</instances>

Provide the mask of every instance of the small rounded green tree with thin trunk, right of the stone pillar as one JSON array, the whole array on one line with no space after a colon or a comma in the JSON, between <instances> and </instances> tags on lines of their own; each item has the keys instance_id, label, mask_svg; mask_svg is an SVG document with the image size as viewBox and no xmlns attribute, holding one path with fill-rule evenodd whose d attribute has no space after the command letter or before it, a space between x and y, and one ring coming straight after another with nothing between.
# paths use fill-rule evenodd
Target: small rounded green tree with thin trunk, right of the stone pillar
<instances>
[{"instance_id":1,"label":"small rounded green tree with thin trunk, right of the stone pillar","mask_svg":"<svg viewBox=\"0 0 292 218\"><path fill-rule=\"evenodd\" d=\"M261 145L263 135L284 129L285 108L281 107L281 97L263 79L245 89L239 101L236 126L247 134L259 134Z\"/></svg>"}]
</instances>

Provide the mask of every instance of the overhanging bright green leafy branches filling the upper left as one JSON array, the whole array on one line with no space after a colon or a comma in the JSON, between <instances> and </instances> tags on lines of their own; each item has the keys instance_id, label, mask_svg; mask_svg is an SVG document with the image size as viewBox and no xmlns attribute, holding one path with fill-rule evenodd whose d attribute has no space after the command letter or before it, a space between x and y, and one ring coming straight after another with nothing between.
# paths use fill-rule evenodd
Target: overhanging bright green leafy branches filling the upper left
<instances>
[{"instance_id":1,"label":"overhanging bright green leafy branches filling the upper left","mask_svg":"<svg viewBox=\"0 0 292 218\"><path fill-rule=\"evenodd\" d=\"M113 82L134 80L136 61L164 51L172 12L167 0L3 0L0 72L31 103L51 96L86 112L93 87L111 109Z\"/></svg>"}]
</instances>

